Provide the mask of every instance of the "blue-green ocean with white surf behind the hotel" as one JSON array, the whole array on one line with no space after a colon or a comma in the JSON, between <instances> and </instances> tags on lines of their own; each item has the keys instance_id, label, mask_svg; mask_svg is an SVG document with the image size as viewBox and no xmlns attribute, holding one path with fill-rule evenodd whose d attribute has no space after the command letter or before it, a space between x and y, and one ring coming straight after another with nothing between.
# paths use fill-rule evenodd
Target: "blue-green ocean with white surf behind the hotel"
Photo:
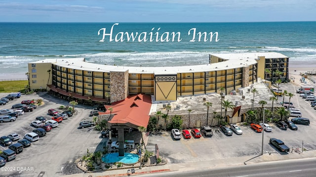
<instances>
[{"instance_id":1,"label":"blue-green ocean with white surf behind the hotel","mask_svg":"<svg viewBox=\"0 0 316 177\"><path fill-rule=\"evenodd\" d=\"M0 23L0 79L25 77L27 63L47 58L85 58L107 65L181 66L207 63L209 54L279 52L290 60L316 62L316 22L114 24ZM112 41L105 35L100 42L102 29L109 34L112 26ZM196 38L192 41L194 29ZM135 37L136 32L133 41L130 35ZM172 41L172 32L178 32L181 41L177 35ZM197 32L206 32L207 41L203 35L198 41Z\"/></svg>"}]
</instances>

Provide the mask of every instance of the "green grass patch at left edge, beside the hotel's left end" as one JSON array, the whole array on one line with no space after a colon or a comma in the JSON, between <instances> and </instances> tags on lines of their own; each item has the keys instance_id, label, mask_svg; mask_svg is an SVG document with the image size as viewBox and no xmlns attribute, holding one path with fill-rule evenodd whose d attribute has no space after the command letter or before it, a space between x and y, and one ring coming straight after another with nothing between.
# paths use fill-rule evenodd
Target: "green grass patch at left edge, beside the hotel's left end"
<instances>
[{"instance_id":1,"label":"green grass patch at left edge, beside the hotel's left end","mask_svg":"<svg viewBox=\"0 0 316 177\"><path fill-rule=\"evenodd\" d=\"M0 93L24 92L25 86L27 85L28 81L1 81Z\"/></svg>"}]
</instances>

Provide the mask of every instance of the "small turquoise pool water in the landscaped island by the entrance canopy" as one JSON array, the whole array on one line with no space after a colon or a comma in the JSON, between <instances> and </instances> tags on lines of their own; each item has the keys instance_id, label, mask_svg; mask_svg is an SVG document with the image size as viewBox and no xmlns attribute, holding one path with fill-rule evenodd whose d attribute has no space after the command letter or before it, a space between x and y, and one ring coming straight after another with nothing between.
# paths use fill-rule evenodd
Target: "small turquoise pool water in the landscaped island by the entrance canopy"
<instances>
[{"instance_id":1,"label":"small turquoise pool water in the landscaped island by the entrance canopy","mask_svg":"<svg viewBox=\"0 0 316 177\"><path fill-rule=\"evenodd\" d=\"M119 157L118 153L109 153L102 157L104 163L122 162L124 164L133 164L138 162L138 155L131 153L124 153L124 156Z\"/></svg>"}]
</instances>

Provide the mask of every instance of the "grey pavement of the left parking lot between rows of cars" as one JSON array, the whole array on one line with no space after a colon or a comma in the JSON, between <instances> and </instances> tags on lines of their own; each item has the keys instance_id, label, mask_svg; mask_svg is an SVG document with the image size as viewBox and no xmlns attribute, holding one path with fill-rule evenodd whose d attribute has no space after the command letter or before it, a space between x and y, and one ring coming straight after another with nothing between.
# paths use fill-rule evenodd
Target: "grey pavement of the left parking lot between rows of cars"
<instances>
[{"instance_id":1,"label":"grey pavement of the left parking lot between rows of cars","mask_svg":"<svg viewBox=\"0 0 316 177\"><path fill-rule=\"evenodd\" d=\"M7 93L0 93L0 97L6 95ZM51 116L47 114L48 109L58 110L60 105L69 104L67 101L56 99L48 94L41 95L40 93L39 95L22 95L21 98L15 98L6 105L0 106L0 109L11 109L13 104L21 103L22 100L36 100L38 98L43 99L44 104L33 112L24 113L14 122L0 123L0 136L17 133L22 139L24 134L35 129L31 126L31 122L36 117L43 116L46 119L51 119ZM86 154L87 149L93 152L96 148L102 148L106 140L100 138L100 132L91 131L91 127L79 128L80 121L92 119L92 117L88 117L91 108L77 105L75 110L76 114L73 117L63 120L58 127L47 132L46 136L40 137L39 141L32 143L28 148L24 148L23 152L17 154L15 160L7 162L4 166L7 167L5 168L6 171L1 171L0 176L56 177L81 173L74 161ZM7 148L0 146L0 150ZM26 171L21 171L22 167Z\"/></svg>"}]
</instances>

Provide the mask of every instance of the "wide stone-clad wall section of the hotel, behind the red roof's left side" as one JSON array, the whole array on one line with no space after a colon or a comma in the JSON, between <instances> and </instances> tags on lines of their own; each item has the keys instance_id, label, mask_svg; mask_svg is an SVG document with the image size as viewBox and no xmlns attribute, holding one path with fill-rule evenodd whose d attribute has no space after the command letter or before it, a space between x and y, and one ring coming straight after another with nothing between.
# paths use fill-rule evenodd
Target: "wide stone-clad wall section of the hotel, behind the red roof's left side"
<instances>
[{"instance_id":1,"label":"wide stone-clad wall section of the hotel, behind the red roof's left side","mask_svg":"<svg viewBox=\"0 0 316 177\"><path fill-rule=\"evenodd\" d=\"M110 72L111 103L123 100L128 95L128 70Z\"/></svg>"}]
</instances>

